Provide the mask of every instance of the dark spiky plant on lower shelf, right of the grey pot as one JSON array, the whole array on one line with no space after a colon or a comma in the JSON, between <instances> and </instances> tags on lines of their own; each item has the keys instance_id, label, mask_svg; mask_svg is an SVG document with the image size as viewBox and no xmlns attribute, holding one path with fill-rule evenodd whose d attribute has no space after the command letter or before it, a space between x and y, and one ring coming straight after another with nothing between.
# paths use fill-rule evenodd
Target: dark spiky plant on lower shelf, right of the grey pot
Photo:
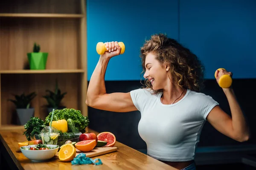
<instances>
[{"instance_id":1,"label":"dark spiky plant on lower shelf, right of the grey pot","mask_svg":"<svg viewBox=\"0 0 256 170\"><path fill-rule=\"evenodd\" d=\"M64 92L61 94L61 90L58 88L58 82L56 80L55 85L55 91L46 90L46 92L49 92L49 94L43 96L47 102L47 109L48 113L52 111L52 109L63 109L66 108L65 106L61 105L61 100L64 98L64 96L67 94L67 92Z\"/></svg>"}]
</instances>

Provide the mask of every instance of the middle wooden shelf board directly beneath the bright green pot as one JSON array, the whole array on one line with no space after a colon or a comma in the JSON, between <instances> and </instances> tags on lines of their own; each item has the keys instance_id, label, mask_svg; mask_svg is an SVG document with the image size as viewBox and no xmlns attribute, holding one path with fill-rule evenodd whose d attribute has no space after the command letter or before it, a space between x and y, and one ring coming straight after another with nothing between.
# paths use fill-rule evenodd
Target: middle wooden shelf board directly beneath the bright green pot
<instances>
[{"instance_id":1,"label":"middle wooden shelf board directly beneath the bright green pot","mask_svg":"<svg viewBox=\"0 0 256 170\"><path fill-rule=\"evenodd\" d=\"M58 70L0 70L0 74L50 74L50 73L84 73L83 69L58 69Z\"/></svg>"}]
</instances>

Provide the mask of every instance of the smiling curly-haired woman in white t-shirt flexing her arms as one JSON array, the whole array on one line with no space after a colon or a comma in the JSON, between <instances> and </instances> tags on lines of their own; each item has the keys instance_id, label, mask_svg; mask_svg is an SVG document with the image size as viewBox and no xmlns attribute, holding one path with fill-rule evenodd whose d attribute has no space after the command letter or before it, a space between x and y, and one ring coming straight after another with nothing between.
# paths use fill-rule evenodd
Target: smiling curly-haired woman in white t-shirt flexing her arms
<instances>
[{"instance_id":1,"label":"smiling curly-haired woman in white t-shirt flexing her arms","mask_svg":"<svg viewBox=\"0 0 256 170\"><path fill-rule=\"evenodd\" d=\"M212 97L199 92L204 67L195 54L176 40L155 34L145 42L141 48L145 88L129 93L106 94L106 68L121 48L117 42L105 45L108 51L100 56L92 74L86 104L106 111L140 111L138 131L149 156L177 169L195 170L195 149L206 120L234 140L249 139L249 129L232 87L223 88L231 118ZM224 74L232 76L223 69L215 74L217 82Z\"/></svg>"}]
</instances>

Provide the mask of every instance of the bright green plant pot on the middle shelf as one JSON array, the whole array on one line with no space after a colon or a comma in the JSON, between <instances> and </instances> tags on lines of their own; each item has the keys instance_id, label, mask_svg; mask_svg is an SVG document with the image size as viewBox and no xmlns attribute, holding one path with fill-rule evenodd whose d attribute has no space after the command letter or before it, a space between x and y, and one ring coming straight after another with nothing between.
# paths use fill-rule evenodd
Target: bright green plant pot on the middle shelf
<instances>
[{"instance_id":1,"label":"bright green plant pot on the middle shelf","mask_svg":"<svg viewBox=\"0 0 256 170\"><path fill-rule=\"evenodd\" d=\"M28 53L30 70L45 70L48 53Z\"/></svg>"}]
</instances>

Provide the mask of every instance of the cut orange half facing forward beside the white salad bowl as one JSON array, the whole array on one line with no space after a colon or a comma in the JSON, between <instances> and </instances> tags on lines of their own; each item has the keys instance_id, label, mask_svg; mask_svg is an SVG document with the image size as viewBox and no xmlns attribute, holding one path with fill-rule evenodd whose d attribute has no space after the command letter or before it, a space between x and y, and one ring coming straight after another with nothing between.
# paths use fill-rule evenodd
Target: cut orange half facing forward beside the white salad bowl
<instances>
[{"instance_id":1,"label":"cut orange half facing forward beside the white salad bowl","mask_svg":"<svg viewBox=\"0 0 256 170\"><path fill-rule=\"evenodd\" d=\"M61 161L72 161L76 156L76 148L73 144L66 144L61 147L58 156Z\"/></svg>"}]
</instances>

